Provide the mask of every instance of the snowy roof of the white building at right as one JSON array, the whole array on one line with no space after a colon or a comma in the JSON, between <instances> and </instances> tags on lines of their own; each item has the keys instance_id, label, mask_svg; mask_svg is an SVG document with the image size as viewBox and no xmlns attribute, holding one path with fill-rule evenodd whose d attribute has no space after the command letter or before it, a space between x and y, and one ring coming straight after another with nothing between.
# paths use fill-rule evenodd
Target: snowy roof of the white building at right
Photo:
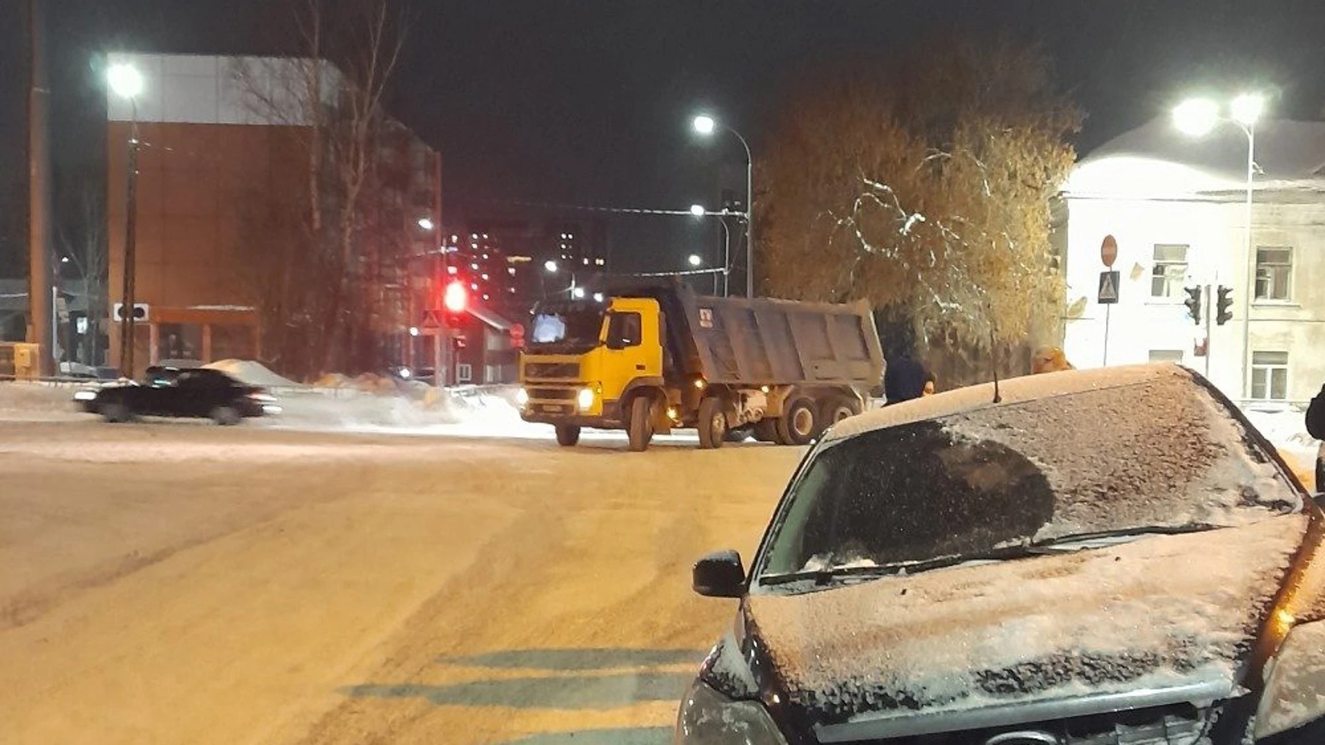
<instances>
[{"instance_id":1,"label":"snowy roof of the white building at right","mask_svg":"<svg viewBox=\"0 0 1325 745\"><path fill-rule=\"evenodd\" d=\"M1256 126L1256 190L1325 191L1325 122L1268 119ZM1204 137L1169 117L1124 133L1077 162L1068 195L1235 192L1247 183L1247 135L1222 123ZM1145 194L1141 194L1145 195Z\"/></svg>"}]
</instances>

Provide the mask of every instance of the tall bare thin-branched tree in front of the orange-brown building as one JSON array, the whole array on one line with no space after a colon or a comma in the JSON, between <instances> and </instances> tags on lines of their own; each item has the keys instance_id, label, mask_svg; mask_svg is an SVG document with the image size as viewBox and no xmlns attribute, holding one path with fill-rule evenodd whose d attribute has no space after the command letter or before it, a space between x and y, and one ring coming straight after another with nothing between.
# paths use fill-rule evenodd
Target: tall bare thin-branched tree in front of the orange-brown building
<instances>
[{"instance_id":1,"label":"tall bare thin-branched tree in front of the orange-brown building","mask_svg":"<svg viewBox=\"0 0 1325 745\"><path fill-rule=\"evenodd\" d=\"M376 276L363 251L367 191L404 25L386 0L301 0L294 20L299 57L240 60L232 70L253 114L286 125L302 154L302 235L268 253L253 281L264 327L284 339L265 345L273 354L293 345L311 357L306 366L343 370ZM253 208L264 221L280 217Z\"/></svg>"}]
</instances>

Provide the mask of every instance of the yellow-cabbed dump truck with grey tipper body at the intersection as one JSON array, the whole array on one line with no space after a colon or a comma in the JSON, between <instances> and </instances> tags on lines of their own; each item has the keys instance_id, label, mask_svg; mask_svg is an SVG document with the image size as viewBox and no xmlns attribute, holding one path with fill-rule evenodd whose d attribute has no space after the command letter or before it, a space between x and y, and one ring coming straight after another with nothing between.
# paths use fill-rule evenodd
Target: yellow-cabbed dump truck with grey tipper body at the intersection
<instances>
[{"instance_id":1,"label":"yellow-cabbed dump truck with grey tipper body at the intersection","mask_svg":"<svg viewBox=\"0 0 1325 745\"><path fill-rule=\"evenodd\" d=\"M697 296L681 282L621 286L534 312L519 362L526 422L574 445L625 430L631 449L696 428L700 447L754 436L803 445L859 414L884 355L865 304Z\"/></svg>"}]
</instances>

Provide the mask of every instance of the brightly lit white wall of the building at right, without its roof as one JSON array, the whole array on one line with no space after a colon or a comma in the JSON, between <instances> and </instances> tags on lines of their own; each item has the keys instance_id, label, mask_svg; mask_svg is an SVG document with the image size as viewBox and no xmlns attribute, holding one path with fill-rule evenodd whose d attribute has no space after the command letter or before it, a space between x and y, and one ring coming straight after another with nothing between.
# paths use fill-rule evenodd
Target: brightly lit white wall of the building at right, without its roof
<instances>
[{"instance_id":1,"label":"brightly lit white wall of the building at right, without its roof","mask_svg":"<svg viewBox=\"0 0 1325 745\"><path fill-rule=\"evenodd\" d=\"M1257 195L1253 245L1293 249L1292 298L1255 301L1249 349L1288 353L1288 400L1309 399L1325 383L1325 200L1301 192ZM1252 285L1246 248L1244 207L1239 201L1071 199L1068 203L1068 296L1071 309L1085 298L1079 317L1067 321L1064 350L1079 367L1105 362L1106 309L1096 302L1100 244L1118 241L1120 302L1110 317L1108 363L1147 362L1151 353L1181 351L1182 362L1204 372L1235 400L1243 398L1246 301ZM1155 245L1187 245L1189 269L1174 297L1154 297ZM1183 305L1187 285L1232 288L1234 318L1212 325L1208 357L1195 355L1206 335ZM1203 297L1204 304L1214 300Z\"/></svg>"}]
</instances>

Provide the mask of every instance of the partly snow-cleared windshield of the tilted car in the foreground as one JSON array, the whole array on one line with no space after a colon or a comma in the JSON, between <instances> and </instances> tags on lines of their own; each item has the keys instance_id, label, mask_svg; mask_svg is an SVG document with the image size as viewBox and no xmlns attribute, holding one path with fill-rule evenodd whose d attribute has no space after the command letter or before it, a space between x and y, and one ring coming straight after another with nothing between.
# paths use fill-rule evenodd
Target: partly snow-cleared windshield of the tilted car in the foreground
<instances>
[{"instance_id":1,"label":"partly snow-cleared windshield of the tilted car in the foreground","mask_svg":"<svg viewBox=\"0 0 1325 745\"><path fill-rule=\"evenodd\" d=\"M1174 376L825 443L792 485L759 574L916 570L1300 505L1243 426Z\"/></svg>"}]
</instances>

